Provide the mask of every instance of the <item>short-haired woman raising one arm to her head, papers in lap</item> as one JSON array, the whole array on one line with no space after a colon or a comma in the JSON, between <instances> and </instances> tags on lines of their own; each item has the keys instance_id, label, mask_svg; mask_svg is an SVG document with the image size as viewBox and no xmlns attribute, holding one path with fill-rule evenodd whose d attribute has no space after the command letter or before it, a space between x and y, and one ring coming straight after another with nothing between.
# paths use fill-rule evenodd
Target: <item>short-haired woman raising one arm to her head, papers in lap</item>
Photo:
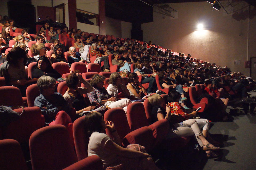
<instances>
[{"instance_id":1,"label":"short-haired woman raising one arm to her head, papers in lap","mask_svg":"<svg viewBox=\"0 0 256 170\"><path fill-rule=\"evenodd\" d=\"M89 111L95 109L95 106L89 106L86 103L83 94L89 93L93 90L93 87L83 79L77 72L70 73L66 78L67 83L67 91L63 95L65 98L67 105L69 107L74 107L76 110L76 114L83 115L83 111ZM83 83L86 88L81 87L81 83ZM90 103L91 104L91 103Z\"/></svg>"}]
</instances>

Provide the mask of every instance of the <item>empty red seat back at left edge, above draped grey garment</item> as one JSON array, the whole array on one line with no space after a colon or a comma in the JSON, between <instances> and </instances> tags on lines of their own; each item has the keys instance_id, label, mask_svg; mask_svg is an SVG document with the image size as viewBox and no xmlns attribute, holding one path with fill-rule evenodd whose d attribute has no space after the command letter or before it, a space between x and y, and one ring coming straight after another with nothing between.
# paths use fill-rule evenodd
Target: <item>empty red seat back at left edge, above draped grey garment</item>
<instances>
[{"instance_id":1,"label":"empty red seat back at left edge, above draped grey garment","mask_svg":"<svg viewBox=\"0 0 256 170\"><path fill-rule=\"evenodd\" d=\"M21 91L14 86L0 87L0 103L3 106L23 106Z\"/></svg>"}]
</instances>

